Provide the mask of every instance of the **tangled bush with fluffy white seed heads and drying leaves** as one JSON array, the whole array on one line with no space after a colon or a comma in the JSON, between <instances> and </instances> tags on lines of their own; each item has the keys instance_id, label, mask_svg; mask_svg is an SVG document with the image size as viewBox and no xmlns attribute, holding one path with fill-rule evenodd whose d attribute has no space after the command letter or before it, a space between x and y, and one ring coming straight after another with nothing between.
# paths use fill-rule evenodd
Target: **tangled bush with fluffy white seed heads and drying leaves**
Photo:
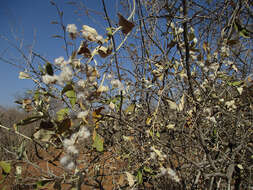
<instances>
[{"instance_id":1,"label":"tangled bush with fluffy white seed heads and drying leaves","mask_svg":"<svg viewBox=\"0 0 253 190\"><path fill-rule=\"evenodd\" d=\"M115 23L101 1L104 33L85 23L65 26L51 2L67 58L50 62L30 50L41 64L26 59L19 78L36 84L22 102L32 115L13 132L22 135L21 126L39 122L26 140L62 150L53 161L64 172L44 171L47 178L33 183L251 189L252 3L120 2Z\"/></svg>"}]
</instances>

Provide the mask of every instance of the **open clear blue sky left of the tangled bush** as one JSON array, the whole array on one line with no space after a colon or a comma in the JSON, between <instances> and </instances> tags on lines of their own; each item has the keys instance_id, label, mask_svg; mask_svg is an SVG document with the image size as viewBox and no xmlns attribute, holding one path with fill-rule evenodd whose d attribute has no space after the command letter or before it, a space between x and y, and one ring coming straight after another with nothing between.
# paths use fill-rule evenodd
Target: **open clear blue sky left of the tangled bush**
<instances>
[{"instance_id":1,"label":"open clear blue sky left of the tangled bush","mask_svg":"<svg viewBox=\"0 0 253 190\"><path fill-rule=\"evenodd\" d=\"M93 19L78 16L75 13L77 7L67 4L69 1L55 0L55 2L64 12L65 25L75 23L80 29L82 24L87 24L98 31L106 27L103 18L95 18L94 20L99 21L99 25L96 25L98 23L92 22ZM91 9L102 11L100 0L83 0L82 2ZM109 9L109 16L114 19L118 1L105 0L105 2ZM50 61L65 55L62 49L63 41L52 38L53 35L62 34L59 26L51 24L51 21L58 18L56 8L50 4L49 0L0 0L0 36L8 38L16 45L18 43L15 37L23 39L24 48L30 46L35 40L34 49ZM18 63L23 61L20 54L10 48L3 39L0 39L0 57L15 58L14 62ZM15 106L15 96L22 95L25 90L33 88L30 80L18 79L19 71L21 70L0 60L0 105Z\"/></svg>"}]
</instances>

